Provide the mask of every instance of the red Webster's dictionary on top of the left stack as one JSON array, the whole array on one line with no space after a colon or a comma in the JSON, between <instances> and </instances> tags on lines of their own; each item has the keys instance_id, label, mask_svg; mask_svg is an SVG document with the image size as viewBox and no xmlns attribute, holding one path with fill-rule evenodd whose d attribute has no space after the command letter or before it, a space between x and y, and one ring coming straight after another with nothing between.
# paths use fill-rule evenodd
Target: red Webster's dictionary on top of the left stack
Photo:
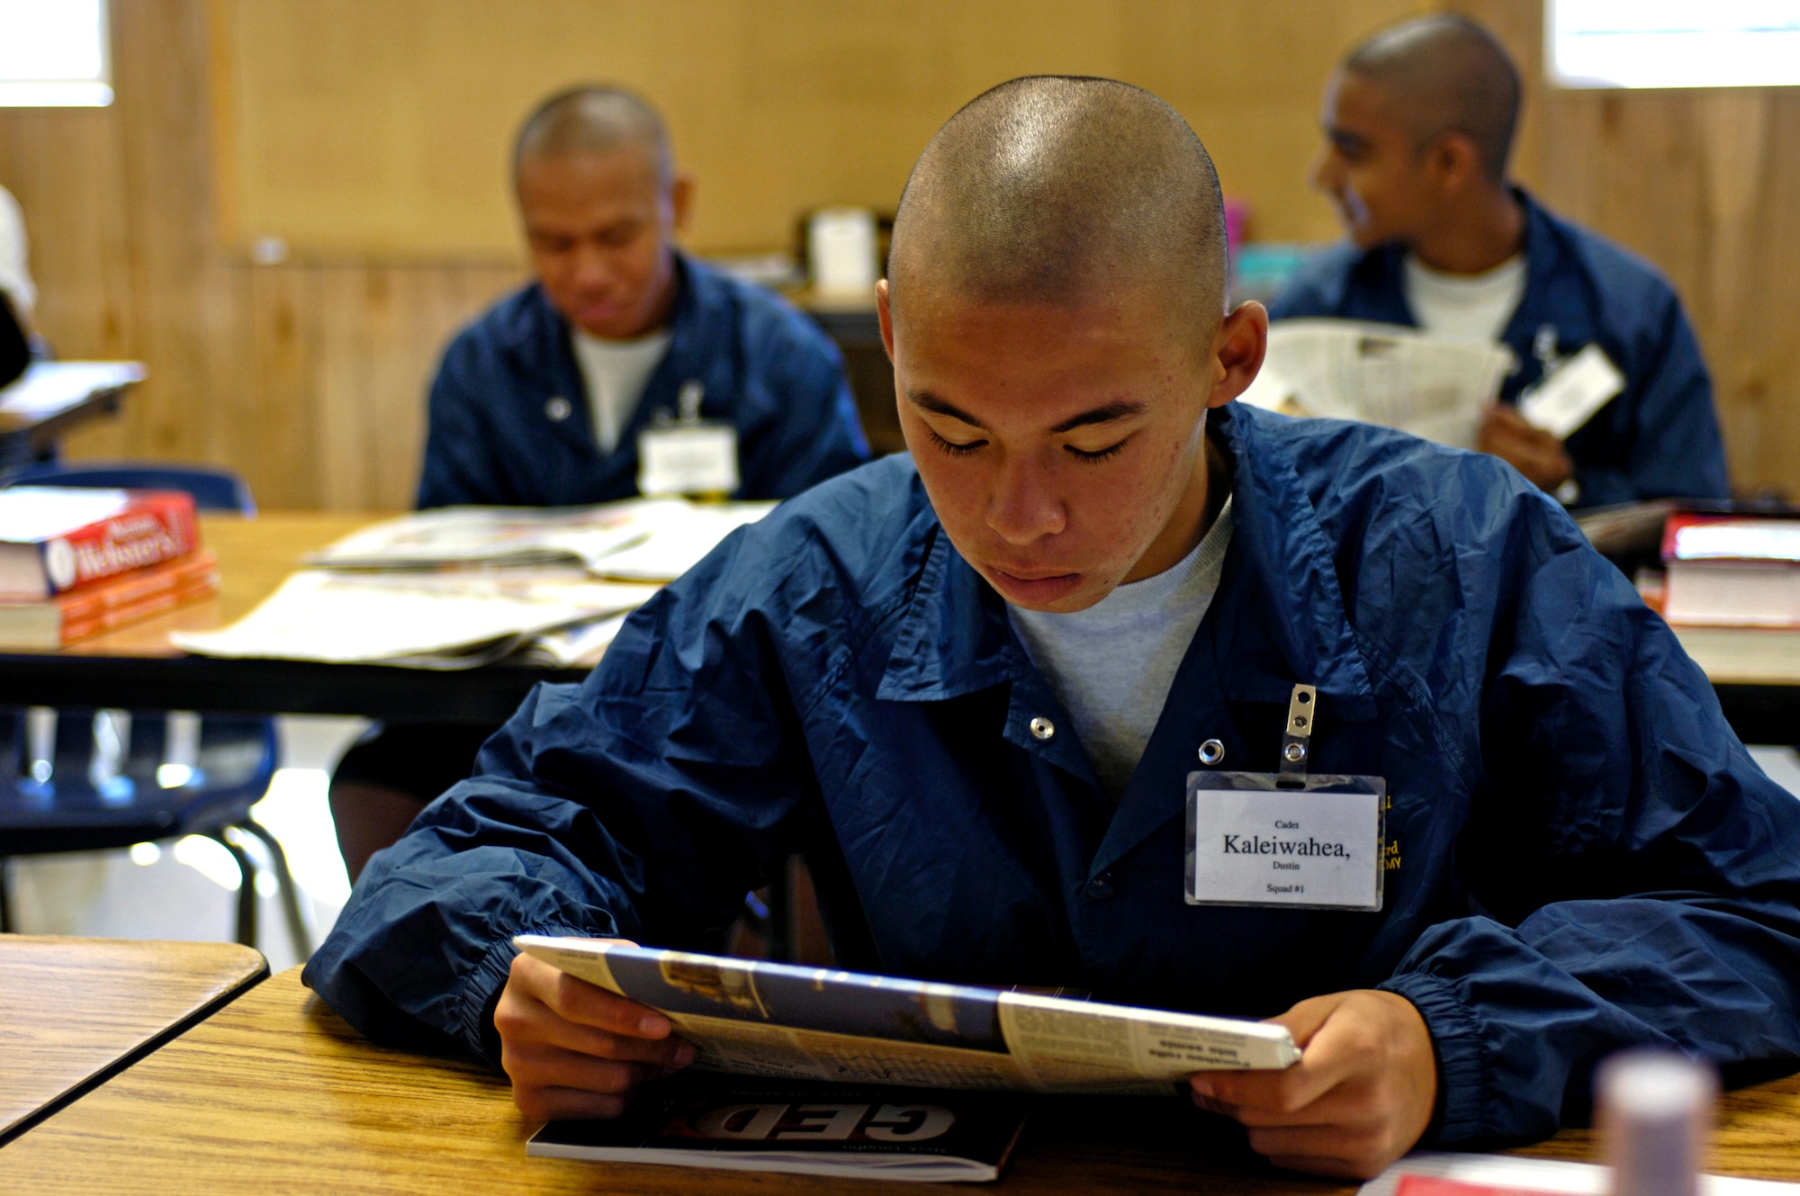
<instances>
[{"instance_id":1,"label":"red Webster's dictionary on top of the left stack","mask_svg":"<svg viewBox=\"0 0 1800 1196\"><path fill-rule=\"evenodd\" d=\"M0 490L0 600L50 598L200 546L194 499L173 490Z\"/></svg>"}]
</instances>

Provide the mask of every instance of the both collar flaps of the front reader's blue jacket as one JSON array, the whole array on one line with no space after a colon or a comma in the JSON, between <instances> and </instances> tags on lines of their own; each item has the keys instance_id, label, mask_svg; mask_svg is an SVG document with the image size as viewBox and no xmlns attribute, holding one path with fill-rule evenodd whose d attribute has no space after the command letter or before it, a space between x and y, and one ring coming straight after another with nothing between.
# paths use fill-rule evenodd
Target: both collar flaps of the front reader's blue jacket
<instances>
[{"instance_id":1,"label":"both collar flaps of the front reader's blue jacket","mask_svg":"<svg viewBox=\"0 0 1800 1196\"><path fill-rule=\"evenodd\" d=\"M1210 414L1210 434L1233 465L1231 557L1224 585L1273 609L1276 650L1289 677L1258 675L1220 661L1231 693L1246 701L1287 701L1292 681L1309 681L1350 719L1375 713L1368 665L1345 614L1332 571L1330 539L1300 481L1292 456L1271 432L1282 416L1237 403ZM882 701L945 701L1033 675L1006 620L1004 602L932 524L925 566L877 690ZM1229 650L1229 647L1228 647Z\"/></svg>"}]
</instances>

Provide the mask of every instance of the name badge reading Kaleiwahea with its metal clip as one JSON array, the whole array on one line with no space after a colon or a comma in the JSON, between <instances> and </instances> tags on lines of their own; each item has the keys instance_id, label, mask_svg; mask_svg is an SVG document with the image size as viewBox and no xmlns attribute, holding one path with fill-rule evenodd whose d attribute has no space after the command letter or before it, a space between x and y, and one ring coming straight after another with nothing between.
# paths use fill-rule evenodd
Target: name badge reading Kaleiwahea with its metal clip
<instances>
[{"instance_id":1,"label":"name badge reading Kaleiwahea with its metal clip","mask_svg":"<svg viewBox=\"0 0 1800 1196\"><path fill-rule=\"evenodd\" d=\"M1190 906L1381 910L1388 782L1307 773L1316 701L1294 686L1280 773L1188 775Z\"/></svg>"}]
</instances>

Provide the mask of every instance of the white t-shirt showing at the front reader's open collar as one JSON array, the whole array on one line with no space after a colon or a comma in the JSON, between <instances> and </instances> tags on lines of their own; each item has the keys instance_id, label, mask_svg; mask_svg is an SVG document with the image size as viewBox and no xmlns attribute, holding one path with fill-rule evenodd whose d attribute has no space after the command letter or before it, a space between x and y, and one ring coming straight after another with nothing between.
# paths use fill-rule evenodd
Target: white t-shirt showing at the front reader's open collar
<instances>
[{"instance_id":1,"label":"white t-shirt showing at the front reader's open collar","mask_svg":"<svg viewBox=\"0 0 1800 1196\"><path fill-rule=\"evenodd\" d=\"M1219 591L1231 546L1231 499L1193 551L1172 569L1120 585L1073 614L1008 603L1013 630L1057 692L1114 802L1138 771L1163 717L1168 686Z\"/></svg>"}]
</instances>

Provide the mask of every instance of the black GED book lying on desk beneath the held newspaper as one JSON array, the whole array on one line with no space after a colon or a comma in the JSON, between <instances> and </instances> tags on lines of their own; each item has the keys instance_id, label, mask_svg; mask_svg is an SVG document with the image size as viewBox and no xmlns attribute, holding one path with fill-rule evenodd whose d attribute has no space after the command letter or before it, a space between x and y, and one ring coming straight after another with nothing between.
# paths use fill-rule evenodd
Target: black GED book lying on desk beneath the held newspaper
<instances>
[{"instance_id":1,"label":"black GED book lying on desk beneath the held newspaper","mask_svg":"<svg viewBox=\"0 0 1800 1196\"><path fill-rule=\"evenodd\" d=\"M985 1182L1006 1165L1030 1097L677 1075L623 1117L538 1129L526 1153L612 1164L835 1178Z\"/></svg>"}]
</instances>

